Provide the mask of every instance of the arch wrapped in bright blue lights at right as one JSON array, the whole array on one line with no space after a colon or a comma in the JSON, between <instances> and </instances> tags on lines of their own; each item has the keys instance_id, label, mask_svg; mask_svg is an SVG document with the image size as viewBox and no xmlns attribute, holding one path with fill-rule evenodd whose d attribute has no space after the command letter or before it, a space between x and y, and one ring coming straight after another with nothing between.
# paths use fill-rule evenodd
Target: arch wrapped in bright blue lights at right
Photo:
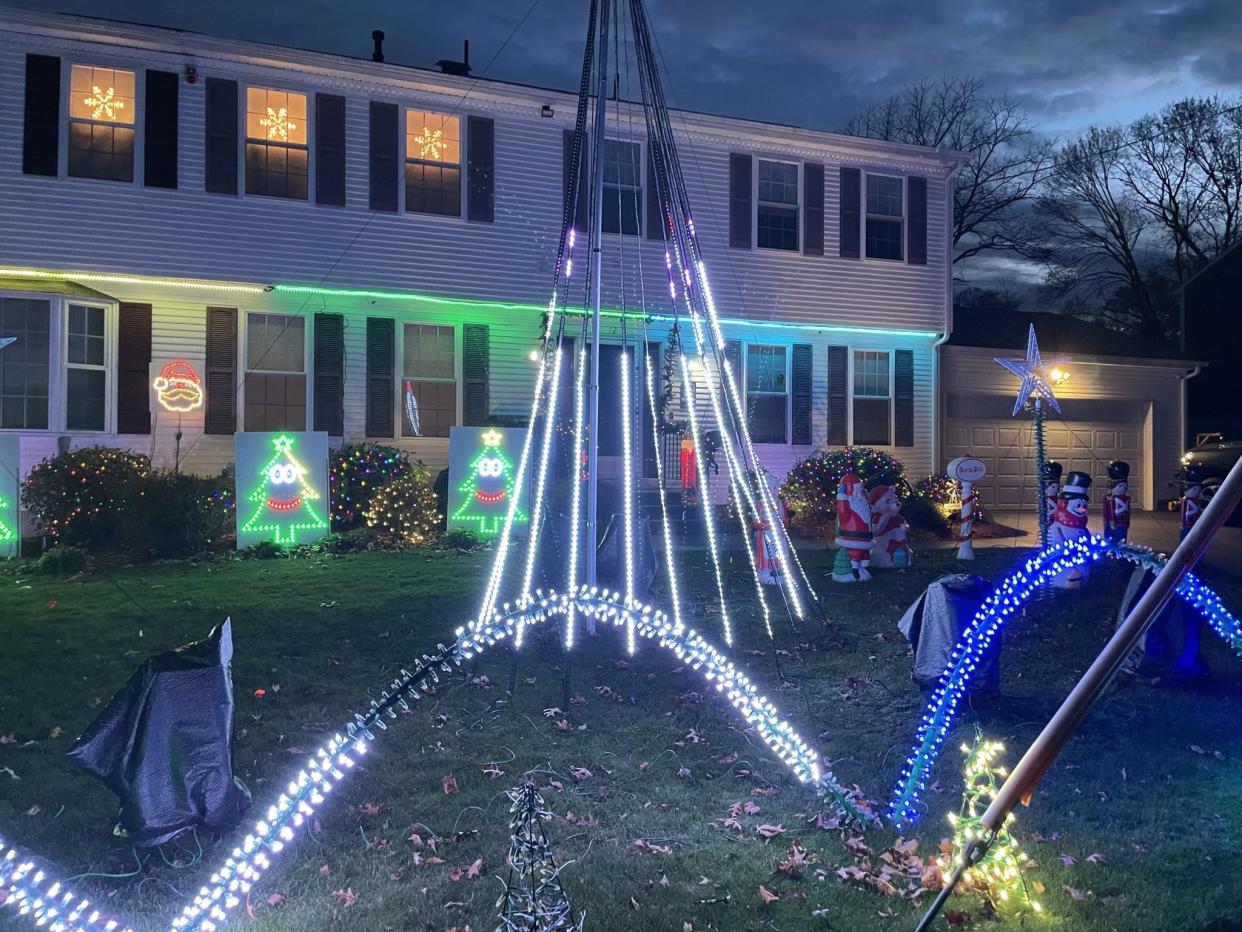
<instances>
[{"instance_id":1,"label":"arch wrapped in bright blue lights at right","mask_svg":"<svg viewBox=\"0 0 1242 932\"><path fill-rule=\"evenodd\" d=\"M986 662L992 641L1006 619L1020 611L1035 592L1053 577L1102 557L1129 560L1153 572L1159 572L1167 562L1166 557L1153 551L1090 536L1042 551L997 585L975 613L970 626L958 639L940 681L928 701L914 738L914 747L902 768L902 775L886 813L889 821L902 825L918 820L928 774L935 765L941 744L953 731L958 705L970 687L975 670ZM1177 585L1177 595L1197 610L1208 626L1242 656L1242 625L1210 587L1195 574L1187 573Z\"/></svg>"}]
</instances>

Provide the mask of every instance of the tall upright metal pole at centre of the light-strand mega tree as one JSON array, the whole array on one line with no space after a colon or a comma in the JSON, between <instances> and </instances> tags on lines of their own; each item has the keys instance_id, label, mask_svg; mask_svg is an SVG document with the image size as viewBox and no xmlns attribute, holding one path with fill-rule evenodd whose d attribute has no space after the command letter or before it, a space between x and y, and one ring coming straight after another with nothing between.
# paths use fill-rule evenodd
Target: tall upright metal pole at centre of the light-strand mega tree
<instances>
[{"instance_id":1,"label":"tall upright metal pole at centre of the light-strand mega tree","mask_svg":"<svg viewBox=\"0 0 1242 932\"><path fill-rule=\"evenodd\" d=\"M595 138L591 145L591 380L587 395L586 427L586 584L595 585L599 551L599 460L600 460L600 273L602 271L604 237L604 150L605 101L609 93L609 14L611 0L600 2L600 36L596 52L599 83L595 92ZM591 625L594 630L594 623Z\"/></svg>"}]
</instances>

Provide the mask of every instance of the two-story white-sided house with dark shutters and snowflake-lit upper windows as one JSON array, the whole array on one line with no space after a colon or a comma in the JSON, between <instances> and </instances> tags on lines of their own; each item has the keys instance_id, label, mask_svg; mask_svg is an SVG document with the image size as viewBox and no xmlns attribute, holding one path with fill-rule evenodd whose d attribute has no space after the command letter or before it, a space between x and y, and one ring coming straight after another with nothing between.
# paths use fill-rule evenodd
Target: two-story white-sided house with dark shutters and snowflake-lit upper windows
<instances>
[{"instance_id":1,"label":"two-story white-sided house with dark shutters and snowflake-lit upper windows","mask_svg":"<svg viewBox=\"0 0 1242 932\"><path fill-rule=\"evenodd\" d=\"M171 466L180 431L181 467L214 472L235 431L276 429L437 466L452 425L528 413L574 94L16 10L0 87L0 430L24 470L92 444ZM605 301L662 338L642 114L611 114ZM960 157L673 123L765 464L859 444L932 471ZM150 391L174 360L205 391L184 414Z\"/></svg>"}]
</instances>

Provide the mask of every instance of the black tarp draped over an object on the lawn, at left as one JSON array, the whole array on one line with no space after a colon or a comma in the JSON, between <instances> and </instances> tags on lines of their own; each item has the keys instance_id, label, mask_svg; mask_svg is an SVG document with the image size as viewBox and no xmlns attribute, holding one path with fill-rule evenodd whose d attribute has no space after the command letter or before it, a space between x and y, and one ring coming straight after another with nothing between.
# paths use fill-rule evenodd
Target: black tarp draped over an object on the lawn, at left
<instances>
[{"instance_id":1,"label":"black tarp draped over an object on the lawn, at left","mask_svg":"<svg viewBox=\"0 0 1242 932\"><path fill-rule=\"evenodd\" d=\"M250 806L232 773L232 629L139 666L70 751L120 799L113 833L139 847L221 834Z\"/></svg>"}]
</instances>

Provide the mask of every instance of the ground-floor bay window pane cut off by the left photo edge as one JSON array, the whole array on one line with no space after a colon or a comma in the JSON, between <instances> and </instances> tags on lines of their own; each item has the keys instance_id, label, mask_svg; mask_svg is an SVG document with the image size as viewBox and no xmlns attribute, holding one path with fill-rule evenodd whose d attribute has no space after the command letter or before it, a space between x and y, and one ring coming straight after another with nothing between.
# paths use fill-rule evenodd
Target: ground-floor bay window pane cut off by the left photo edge
<instances>
[{"instance_id":1,"label":"ground-floor bay window pane cut off by the left photo edge","mask_svg":"<svg viewBox=\"0 0 1242 932\"><path fill-rule=\"evenodd\" d=\"M0 338L16 337L0 350L0 427L47 430L52 302L0 298Z\"/></svg>"}]
</instances>

